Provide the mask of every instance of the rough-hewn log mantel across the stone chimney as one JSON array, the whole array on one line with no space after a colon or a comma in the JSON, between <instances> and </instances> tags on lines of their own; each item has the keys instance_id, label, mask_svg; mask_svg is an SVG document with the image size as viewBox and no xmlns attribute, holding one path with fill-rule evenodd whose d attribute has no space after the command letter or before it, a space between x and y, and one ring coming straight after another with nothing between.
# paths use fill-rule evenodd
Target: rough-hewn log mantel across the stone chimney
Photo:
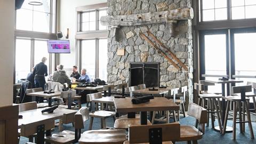
<instances>
[{"instance_id":1,"label":"rough-hewn log mantel across the stone chimney","mask_svg":"<svg viewBox=\"0 0 256 144\"><path fill-rule=\"evenodd\" d=\"M193 8L179 8L169 11L149 12L130 15L104 16L100 18L101 25L111 27L118 26L141 26L155 23L171 23L177 20L187 20L194 18Z\"/></svg>"}]
</instances>

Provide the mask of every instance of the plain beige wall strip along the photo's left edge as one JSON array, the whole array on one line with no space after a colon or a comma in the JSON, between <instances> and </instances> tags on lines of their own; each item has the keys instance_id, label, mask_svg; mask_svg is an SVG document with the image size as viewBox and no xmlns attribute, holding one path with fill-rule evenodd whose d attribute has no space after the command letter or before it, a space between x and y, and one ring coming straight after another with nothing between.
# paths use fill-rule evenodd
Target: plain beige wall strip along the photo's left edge
<instances>
[{"instance_id":1,"label":"plain beige wall strip along the photo's left edge","mask_svg":"<svg viewBox=\"0 0 256 144\"><path fill-rule=\"evenodd\" d=\"M0 107L12 105L14 62L14 0L0 0Z\"/></svg>"}]
</instances>

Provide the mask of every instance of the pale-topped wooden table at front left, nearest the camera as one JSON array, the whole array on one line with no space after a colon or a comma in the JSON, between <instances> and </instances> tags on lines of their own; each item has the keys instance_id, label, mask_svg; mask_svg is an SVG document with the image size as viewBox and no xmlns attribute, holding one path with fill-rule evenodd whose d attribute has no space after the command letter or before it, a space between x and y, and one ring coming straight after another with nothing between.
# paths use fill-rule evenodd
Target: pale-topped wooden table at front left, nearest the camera
<instances>
[{"instance_id":1,"label":"pale-topped wooden table at front left, nearest the camera","mask_svg":"<svg viewBox=\"0 0 256 144\"><path fill-rule=\"evenodd\" d=\"M49 107L48 107L49 108ZM46 135L51 135L51 129L54 128L55 119L68 119L68 122L74 122L74 115L77 112L76 110L62 109L57 108L50 114L42 114L42 110L45 108L38 108L33 110L22 111L19 115L22 115L22 118L18 121L18 127L21 129L21 136L28 137L34 133L38 133L38 126L44 127L46 130ZM40 136L41 135L41 136ZM42 143L44 139L44 131L38 134L36 143ZM40 138L41 137L41 138Z\"/></svg>"}]
</instances>

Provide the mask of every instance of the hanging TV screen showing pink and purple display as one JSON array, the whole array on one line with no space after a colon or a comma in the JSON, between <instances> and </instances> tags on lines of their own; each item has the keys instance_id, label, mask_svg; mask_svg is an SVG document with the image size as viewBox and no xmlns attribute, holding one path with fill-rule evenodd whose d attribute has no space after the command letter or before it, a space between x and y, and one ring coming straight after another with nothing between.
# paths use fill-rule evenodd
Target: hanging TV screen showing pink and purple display
<instances>
[{"instance_id":1,"label":"hanging TV screen showing pink and purple display","mask_svg":"<svg viewBox=\"0 0 256 144\"><path fill-rule=\"evenodd\" d=\"M49 40L47 47L49 53L70 53L69 40Z\"/></svg>"}]
</instances>

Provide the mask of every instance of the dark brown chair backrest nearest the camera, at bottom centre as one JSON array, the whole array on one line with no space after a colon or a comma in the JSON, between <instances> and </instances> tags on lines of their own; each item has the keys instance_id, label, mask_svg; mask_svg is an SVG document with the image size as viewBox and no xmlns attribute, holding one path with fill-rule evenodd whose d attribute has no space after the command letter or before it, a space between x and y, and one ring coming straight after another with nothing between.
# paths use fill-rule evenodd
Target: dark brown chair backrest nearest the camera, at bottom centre
<instances>
[{"instance_id":1,"label":"dark brown chair backrest nearest the camera, at bottom centre","mask_svg":"<svg viewBox=\"0 0 256 144\"><path fill-rule=\"evenodd\" d=\"M180 123L157 125L134 125L129 127L129 142L149 142L149 129L161 128L162 141L178 141L180 138Z\"/></svg>"}]
</instances>

